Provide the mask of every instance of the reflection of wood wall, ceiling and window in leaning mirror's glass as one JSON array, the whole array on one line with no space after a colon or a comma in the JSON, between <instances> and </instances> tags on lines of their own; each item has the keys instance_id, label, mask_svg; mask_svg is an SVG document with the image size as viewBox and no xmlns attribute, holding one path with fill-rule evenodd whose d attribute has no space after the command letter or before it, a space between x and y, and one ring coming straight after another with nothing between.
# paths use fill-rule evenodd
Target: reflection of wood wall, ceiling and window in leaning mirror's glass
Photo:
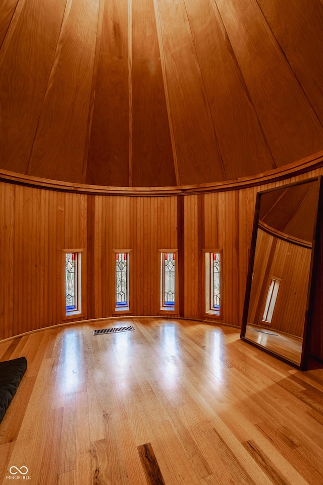
<instances>
[{"instance_id":1,"label":"reflection of wood wall, ceiling and window in leaning mirror's glass","mask_svg":"<svg viewBox=\"0 0 323 485\"><path fill-rule=\"evenodd\" d=\"M301 366L317 179L257 195L241 337Z\"/></svg>"}]
</instances>

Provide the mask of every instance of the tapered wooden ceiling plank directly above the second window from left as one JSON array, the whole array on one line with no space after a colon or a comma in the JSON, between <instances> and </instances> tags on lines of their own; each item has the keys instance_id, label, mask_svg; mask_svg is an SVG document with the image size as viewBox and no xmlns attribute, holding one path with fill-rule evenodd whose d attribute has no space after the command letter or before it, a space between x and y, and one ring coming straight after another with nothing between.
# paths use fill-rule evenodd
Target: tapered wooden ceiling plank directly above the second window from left
<instances>
[{"instance_id":1,"label":"tapered wooden ceiling plank directly above the second window from left","mask_svg":"<svg viewBox=\"0 0 323 485\"><path fill-rule=\"evenodd\" d=\"M128 186L127 0L105 0L99 56L86 183Z\"/></svg>"}]
</instances>

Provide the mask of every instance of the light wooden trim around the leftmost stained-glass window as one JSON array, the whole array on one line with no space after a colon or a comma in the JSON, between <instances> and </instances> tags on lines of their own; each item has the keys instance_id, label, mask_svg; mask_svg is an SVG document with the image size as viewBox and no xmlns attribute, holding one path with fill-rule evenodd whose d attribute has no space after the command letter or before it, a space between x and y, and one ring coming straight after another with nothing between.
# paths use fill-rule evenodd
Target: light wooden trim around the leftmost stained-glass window
<instances>
[{"instance_id":1,"label":"light wooden trim around the leftmost stained-glass window","mask_svg":"<svg viewBox=\"0 0 323 485\"><path fill-rule=\"evenodd\" d=\"M63 296L63 308L62 308L62 318L63 320L68 320L70 318L76 318L76 317L84 317L84 312L82 311L84 308L84 300L82 297L82 279L84 275L82 275L82 267L84 267L84 264L82 265L82 253L84 251L84 248L82 249L63 249L63 265L62 265L62 270L63 270L63 284L62 284L62 296ZM66 286L65 286L65 264L66 264L66 254L67 253L74 253L76 256L76 274L75 274L75 281L76 281L76 301L77 305L74 310L66 311ZM84 271L84 269L83 269Z\"/></svg>"}]
</instances>

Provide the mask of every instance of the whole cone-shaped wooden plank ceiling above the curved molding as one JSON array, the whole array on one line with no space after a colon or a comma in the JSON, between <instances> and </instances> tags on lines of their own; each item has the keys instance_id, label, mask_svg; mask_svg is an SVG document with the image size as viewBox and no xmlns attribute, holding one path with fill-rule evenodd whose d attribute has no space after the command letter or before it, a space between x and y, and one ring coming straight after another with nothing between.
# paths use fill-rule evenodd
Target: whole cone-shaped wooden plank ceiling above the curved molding
<instances>
[{"instance_id":1,"label":"whole cone-shaped wooden plank ceiling above the curved molding","mask_svg":"<svg viewBox=\"0 0 323 485\"><path fill-rule=\"evenodd\" d=\"M323 0L2 0L0 169L174 186L323 150Z\"/></svg>"}]
</instances>

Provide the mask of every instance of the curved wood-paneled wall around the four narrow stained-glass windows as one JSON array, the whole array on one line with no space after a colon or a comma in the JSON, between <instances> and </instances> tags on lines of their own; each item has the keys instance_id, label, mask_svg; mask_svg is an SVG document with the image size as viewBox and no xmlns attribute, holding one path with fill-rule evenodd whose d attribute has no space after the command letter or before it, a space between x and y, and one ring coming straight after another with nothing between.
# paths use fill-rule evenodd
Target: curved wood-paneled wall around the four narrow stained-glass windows
<instances>
[{"instance_id":1,"label":"curved wood-paneled wall around the four narrow stained-glass windows","mask_svg":"<svg viewBox=\"0 0 323 485\"><path fill-rule=\"evenodd\" d=\"M141 197L0 182L0 338L63 323L62 250L78 248L84 248L85 319L112 316L113 250L126 249L131 250L134 315L157 314L158 250L178 249L179 316L205 319L201 254L218 248L223 250L223 315L216 320L240 325L256 192L282 183Z\"/></svg>"}]
</instances>

